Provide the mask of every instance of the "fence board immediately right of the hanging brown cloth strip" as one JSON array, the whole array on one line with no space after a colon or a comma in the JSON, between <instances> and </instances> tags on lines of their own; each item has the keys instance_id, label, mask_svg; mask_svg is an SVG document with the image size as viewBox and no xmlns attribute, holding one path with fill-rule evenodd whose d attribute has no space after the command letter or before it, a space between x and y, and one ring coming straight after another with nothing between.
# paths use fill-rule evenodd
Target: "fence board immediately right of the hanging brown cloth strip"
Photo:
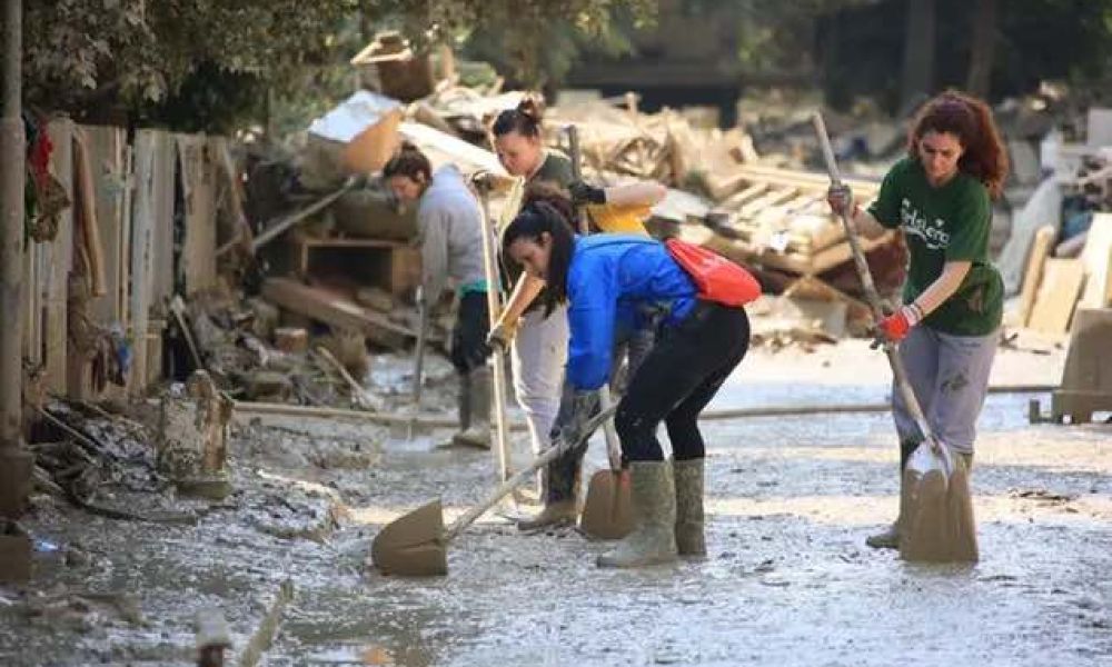
<instances>
[{"instance_id":1,"label":"fence board immediately right of the hanging brown cloth strip","mask_svg":"<svg viewBox=\"0 0 1112 667\"><path fill-rule=\"evenodd\" d=\"M120 295L121 265L126 263L120 223L123 188L127 186L123 172L127 136L122 129L108 126L82 126L81 131L89 149L97 227L105 262L105 293L92 299L90 312L93 319L107 326L120 321L126 302Z\"/></svg>"}]
</instances>

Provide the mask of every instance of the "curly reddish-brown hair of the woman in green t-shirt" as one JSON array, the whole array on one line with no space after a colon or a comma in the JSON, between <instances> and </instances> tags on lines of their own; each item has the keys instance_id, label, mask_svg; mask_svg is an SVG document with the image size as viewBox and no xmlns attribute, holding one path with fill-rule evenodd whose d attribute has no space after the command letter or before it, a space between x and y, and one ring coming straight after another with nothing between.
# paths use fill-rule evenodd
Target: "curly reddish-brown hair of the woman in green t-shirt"
<instances>
[{"instance_id":1,"label":"curly reddish-brown hair of the woman in green t-shirt","mask_svg":"<svg viewBox=\"0 0 1112 667\"><path fill-rule=\"evenodd\" d=\"M957 90L929 100L907 132L907 155L919 159L919 141L927 132L950 133L962 145L957 169L981 181L992 199L999 199L1007 178L1007 151L983 101Z\"/></svg>"}]
</instances>

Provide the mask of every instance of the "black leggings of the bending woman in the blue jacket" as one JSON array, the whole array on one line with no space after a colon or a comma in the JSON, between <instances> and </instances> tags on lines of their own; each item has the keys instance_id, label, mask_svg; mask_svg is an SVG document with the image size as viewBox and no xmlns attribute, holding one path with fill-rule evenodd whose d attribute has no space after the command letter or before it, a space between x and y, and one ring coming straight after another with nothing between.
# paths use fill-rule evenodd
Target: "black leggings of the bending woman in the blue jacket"
<instances>
[{"instance_id":1,"label":"black leggings of the bending woman in the blue jacket","mask_svg":"<svg viewBox=\"0 0 1112 667\"><path fill-rule=\"evenodd\" d=\"M661 421L676 460L703 458L698 415L748 347L749 320L742 308L699 301L682 322L662 328L614 417L625 460L664 460L656 439Z\"/></svg>"}]
</instances>

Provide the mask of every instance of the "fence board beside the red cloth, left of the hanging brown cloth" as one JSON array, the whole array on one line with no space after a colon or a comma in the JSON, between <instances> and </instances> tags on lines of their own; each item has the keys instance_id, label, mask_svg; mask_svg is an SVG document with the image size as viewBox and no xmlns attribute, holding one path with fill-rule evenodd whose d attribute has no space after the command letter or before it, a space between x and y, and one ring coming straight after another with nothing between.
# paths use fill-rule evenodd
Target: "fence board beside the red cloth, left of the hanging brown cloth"
<instances>
[{"instance_id":1,"label":"fence board beside the red cloth, left of the hanging brown cloth","mask_svg":"<svg viewBox=\"0 0 1112 667\"><path fill-rule=\"evenodd\" d=\"M58 119L51 121L47 131L54 145L51 156L51 172L62 185L70 201L73 201L73 121ZM46 341L44 361L47 365L46 387L48 390L64 395L68 382L66 348L68 340L69 310L69 272L73 266L73 207L69 207L58 217L58 235L50 243L50 261L43 268L46 275L46 321L43 336Z\"/></svg>"}]
</instances>

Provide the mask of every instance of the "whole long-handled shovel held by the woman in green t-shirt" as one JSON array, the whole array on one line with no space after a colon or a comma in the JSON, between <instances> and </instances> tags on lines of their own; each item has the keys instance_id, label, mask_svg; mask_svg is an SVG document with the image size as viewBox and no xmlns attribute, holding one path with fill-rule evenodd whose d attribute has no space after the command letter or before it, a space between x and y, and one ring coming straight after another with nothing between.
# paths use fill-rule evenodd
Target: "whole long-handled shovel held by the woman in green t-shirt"
<instances>
[{"instance_id":1,"label":"whole long-handled shovel held by the woman in green t-shirt","mask_svg":"<svg viewBox=\"0 0 1112 667\"><path fill-rule=\"evenodd\" d=\"M831 181L841 185L842 178L826 135L826 125L817 111L814 125ZM853 261L872 307L873 318L880 321L884 317L881 299L856 231L845 215L842 216L842 225L845 227L846 240L850 241ZM907 372L895 344L884 341L884 354L892 366L896 390L914 418L921 436L921 445L909 459L901 485L900 557L904 560L931 563L974 563L977 560L976 525L973 520L969 470L931 431L907 381Z\"/></svg>"}]
</instances>

